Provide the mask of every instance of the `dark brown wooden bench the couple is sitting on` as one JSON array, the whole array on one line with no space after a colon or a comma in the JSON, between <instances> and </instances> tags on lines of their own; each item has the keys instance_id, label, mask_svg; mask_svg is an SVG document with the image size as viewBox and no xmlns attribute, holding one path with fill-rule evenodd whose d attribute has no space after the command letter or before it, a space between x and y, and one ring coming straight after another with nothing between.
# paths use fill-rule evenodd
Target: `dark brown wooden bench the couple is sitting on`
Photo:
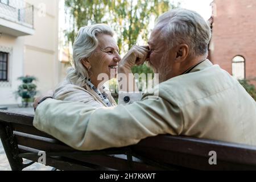
<instances>
[{"instance_id":1,"label":"dark brown wooden bench the couple is sitting on","mask_svg":"<svg viewBox=\"0 0 256 182\"><path fill-rule=\"evenodd\" d=\"M256 170L256 147L207 139L159 135L138 144L77 151L35 129L33 115L0 110L0 135L11 169L22 170L46 152L46 165L60 170ZM209 152L217 165L209 164ZM32 160L23 164L23 159Z\"/></svg>"}]
</instances>

